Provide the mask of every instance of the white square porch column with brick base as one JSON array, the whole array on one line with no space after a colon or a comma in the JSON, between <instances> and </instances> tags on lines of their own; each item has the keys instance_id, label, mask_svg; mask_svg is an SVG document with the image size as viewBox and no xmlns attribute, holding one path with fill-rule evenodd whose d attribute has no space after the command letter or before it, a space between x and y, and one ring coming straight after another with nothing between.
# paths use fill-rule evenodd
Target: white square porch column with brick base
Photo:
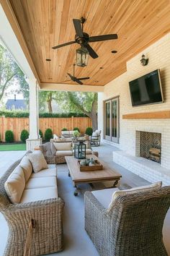
<instances>
[{"instance_id":1,"label":"white square porch column with brick base","mask_svg":"<svg viewBox=\"0 0 170 256\"><path fill-rule=\"evenodd\" d=\"M34 150L42 144L42 139L39 135L39 115L38 115L38 85L37 80L27 80L30 88L30 116L29 129L30 135L26 140L27 150Z\"/></svg>"}]
</instances>

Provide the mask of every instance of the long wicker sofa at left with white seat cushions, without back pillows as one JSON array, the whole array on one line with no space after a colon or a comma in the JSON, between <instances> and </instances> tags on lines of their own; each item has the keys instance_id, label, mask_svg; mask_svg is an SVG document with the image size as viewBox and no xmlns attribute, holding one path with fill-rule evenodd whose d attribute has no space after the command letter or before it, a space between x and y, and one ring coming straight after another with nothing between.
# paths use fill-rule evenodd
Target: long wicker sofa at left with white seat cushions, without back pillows
<instances>
[{"instance_id":1,"label":"long wicker sofa at left with white seat cushions, without back pillows","mask_svg":"<svg viewBox=\"0 0 170 256\"><path fill-rule=\"evenodd\" d=\"M4 255L45 255L63 249L63 200L58 197L55 165L32 173L19 203L6 195L6 180L14 174L22 159L9 167L0 179L0 210L9 236ZM25 253L25 254L24 254Z\"/></svg>"}]
</instances>

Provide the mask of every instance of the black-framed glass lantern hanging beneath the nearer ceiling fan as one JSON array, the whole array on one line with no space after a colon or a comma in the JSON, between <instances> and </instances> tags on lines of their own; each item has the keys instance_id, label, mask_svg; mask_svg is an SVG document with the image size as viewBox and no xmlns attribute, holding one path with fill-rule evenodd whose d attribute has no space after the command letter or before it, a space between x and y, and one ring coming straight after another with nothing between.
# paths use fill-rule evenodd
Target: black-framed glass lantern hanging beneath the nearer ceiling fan
<instances>
[{"instance_id":1,"label":"black-framed glass lantern hanging beneath the nearer ceiling fan","mask_svg":"<svg viewBox=\"0 0 170 256\"><path fill-rule=\"evenodd\" d=\"M76 49L76 65L79 67L86 67L89 59L89 51L81 46L81 48Z\"/></svg>"}]
</instances>

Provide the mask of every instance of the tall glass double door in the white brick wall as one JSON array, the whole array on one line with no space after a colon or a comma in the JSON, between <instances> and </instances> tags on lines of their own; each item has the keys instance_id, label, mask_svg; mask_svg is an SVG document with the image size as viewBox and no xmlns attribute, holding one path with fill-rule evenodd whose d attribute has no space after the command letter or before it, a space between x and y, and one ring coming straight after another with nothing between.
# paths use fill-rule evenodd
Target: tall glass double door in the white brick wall
<instances>
[{"instance_id":1,"label":"tall glass double door in the white brick wall","mask_svg":"<svg viewBox=\"0 0 170 256\"><path fill-rule=\"evenodd\" d=\"M119 98L105 102L104 138L112 142L119 142Z\"/></svg>"}]
</instances>

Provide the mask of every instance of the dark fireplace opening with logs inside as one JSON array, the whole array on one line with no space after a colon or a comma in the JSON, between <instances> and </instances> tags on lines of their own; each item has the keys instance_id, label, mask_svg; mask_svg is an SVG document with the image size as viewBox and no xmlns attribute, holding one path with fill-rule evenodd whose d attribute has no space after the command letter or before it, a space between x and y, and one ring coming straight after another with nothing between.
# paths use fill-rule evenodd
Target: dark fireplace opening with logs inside
<instances>
[{"instance_id":1,"label":"dark fireplace opening with logs inside","mask_svg":"<svg viewBox=\"0 0 170 256\"><path fill-rule=\"evenodd\" d=\"M161 133L140 132L140 156L161 163Z\"/></svg>"}]
</instances>

